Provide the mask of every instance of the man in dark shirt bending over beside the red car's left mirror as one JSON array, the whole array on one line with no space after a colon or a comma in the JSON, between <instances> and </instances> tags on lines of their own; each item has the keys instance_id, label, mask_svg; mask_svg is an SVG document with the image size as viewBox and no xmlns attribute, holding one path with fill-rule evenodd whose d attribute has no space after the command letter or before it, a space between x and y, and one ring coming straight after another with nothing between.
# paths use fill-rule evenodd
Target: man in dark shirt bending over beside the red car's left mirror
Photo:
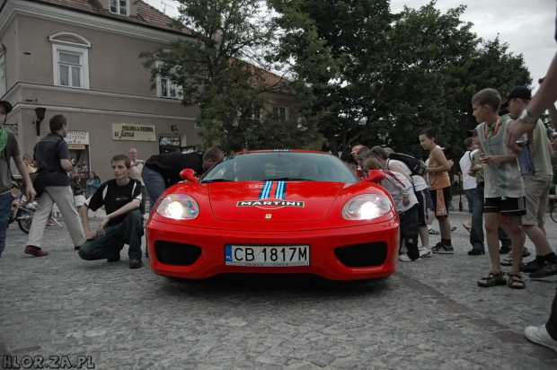
<instances>
[{"instance_id":1,"label":"man in dark shirt bending over beside the red car's left mirror","mask_svg":"<svg viewBox=\"0 0 557 370\"><path fill-rule=\"evenodd\" d=\"M217 146L211 147L205 153L171 152L152 155L141 172L149 195L149 213L153 210L156 200L164 193L164 189L181 181L181 170L190 168L199 176L223 158L224 154Z\"/></svg>"}]
</instances>

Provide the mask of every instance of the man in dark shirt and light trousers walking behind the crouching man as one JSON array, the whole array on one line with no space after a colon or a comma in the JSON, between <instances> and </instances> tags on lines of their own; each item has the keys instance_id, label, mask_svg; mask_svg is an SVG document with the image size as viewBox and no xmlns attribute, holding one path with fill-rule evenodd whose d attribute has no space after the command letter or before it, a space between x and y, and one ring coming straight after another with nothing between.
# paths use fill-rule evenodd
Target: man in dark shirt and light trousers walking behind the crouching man
<instances>
[{"instance_id":1,"label":"man in dark shirt and light trousers walking behind the crouching man","mask_svg":"<svg viewBox=\"0 0 557 370\"><path fill-rule=\"evenodd\" d=\"M52 214L52 207L57 204L64 216L67 230L74 242L74 249L85 242L84 228L79 222L79 216L74 207L74 194L70 186L71 181L67 172L74 164L70 161L66 137L68 132L66 117L58 114L49 122L50 133L43 137L34 148L34 159L37 162L37 172L47 172L46 188L37 201L38 208L33 216L33 223L29 232L25 253L35 257L44 257L49 253L40 248L47 221Z\"/></svg>"}]
</instances>

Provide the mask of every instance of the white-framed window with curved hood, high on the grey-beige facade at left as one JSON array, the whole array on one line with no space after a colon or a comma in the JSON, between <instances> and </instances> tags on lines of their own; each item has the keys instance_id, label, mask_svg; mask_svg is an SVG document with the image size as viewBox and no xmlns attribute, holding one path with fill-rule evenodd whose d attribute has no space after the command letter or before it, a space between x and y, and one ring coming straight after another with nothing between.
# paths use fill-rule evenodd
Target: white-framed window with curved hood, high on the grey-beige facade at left
<instances>
[{"instance_id":1,"label":"white-framed window with curved hood, high on the grey-beige facade at left","mask_svg":"<svg viewBox=\"0 0 557 370\"><path fill-rule=\"evenodd\" d=\"M52 42L54 84L89 89L89 48L91 43L73 32L57 32Z\"/></svg>"}]
</instances>

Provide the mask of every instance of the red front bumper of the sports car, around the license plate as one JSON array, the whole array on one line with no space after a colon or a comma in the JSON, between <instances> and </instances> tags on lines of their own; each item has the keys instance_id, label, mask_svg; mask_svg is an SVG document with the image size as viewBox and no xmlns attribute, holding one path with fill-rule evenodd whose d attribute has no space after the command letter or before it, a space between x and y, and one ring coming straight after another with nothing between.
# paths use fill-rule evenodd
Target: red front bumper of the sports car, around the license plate
<instances>
[{"instance_id":1,"label":"red front bumper of the sports car, around the license plate","mask_svg":"<svg viewBox=\"0 0 557 370\"><path fill-rule=\"evenodd\" d=\"M383 278L392 275L396 269L399 246L397 218L373 225L292 232L245 232L183 225L177 227L151 220L147 225L146 238L149 261L155 274L191 279L210 278L224 273L314 274L333 280ZM187 265L183 264L184 260L179 262L180 265L172 264L168 253L163 251L169 244L173 248L181 248L177 244L183 244L183 248L189 249L188 257L185 258L190 259ZM310 264L296 267L227 266L225 244L308 244ZM351 252L347 254L347 251ZM371 258L376 261L373 266L355 267L362 265L361 260L358 262L360 251L365 251L363 254L367 255L362 257L364 260L369 260L370 254L375 256ZM377 258L380 260L377 261Z\"/></svg>"}]
</instances>

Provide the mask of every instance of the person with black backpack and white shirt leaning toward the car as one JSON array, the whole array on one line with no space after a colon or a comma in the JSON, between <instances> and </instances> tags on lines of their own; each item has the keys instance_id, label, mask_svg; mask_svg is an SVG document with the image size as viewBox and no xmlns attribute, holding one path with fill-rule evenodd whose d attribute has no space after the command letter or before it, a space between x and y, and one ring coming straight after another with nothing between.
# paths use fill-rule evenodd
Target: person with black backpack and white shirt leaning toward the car
<instances>
[{"instance_id":1,"label":"person with black backpack and white shirt leaning toward the car","mask_svg":"<svg viewBox=\"0 0 557 370\"><path fill-rule=\"evenodd\" d=\"M428 228L428 184L423 178L426 165L411 155L392 153L388 154L381 146L371 148L371 156L381 164L381 168L393 172L401 172L412 184L414 196L418 200L418 231L420 233L420 257L433 257L429 249Z\"/></svg>"}]
</instances>

